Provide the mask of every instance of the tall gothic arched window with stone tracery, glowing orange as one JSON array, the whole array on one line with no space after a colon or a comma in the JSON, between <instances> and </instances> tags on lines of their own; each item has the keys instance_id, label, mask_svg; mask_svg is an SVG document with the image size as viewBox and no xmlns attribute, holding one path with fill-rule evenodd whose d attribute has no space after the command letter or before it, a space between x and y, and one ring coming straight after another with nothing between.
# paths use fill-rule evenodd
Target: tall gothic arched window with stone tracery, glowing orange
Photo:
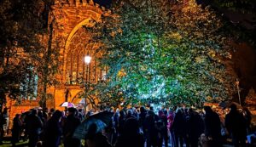
<instances>
[{"instance_id":1,"label":"tall gothic arched window with stone tracery, glowing orange","mask_svg":"<svg viewBox=\"0 0 256 147\"><path fill-rule=\"evenodd\" d=\"M96 53L98 45L90 42L90 34L80 28L73 36L67 51L66 83L80 85L84 82L97 82L102 80L104 70L98 67L99 54ZM84 57L90 55L90 64L85 64Z\"/></svg>"}]
</instances>

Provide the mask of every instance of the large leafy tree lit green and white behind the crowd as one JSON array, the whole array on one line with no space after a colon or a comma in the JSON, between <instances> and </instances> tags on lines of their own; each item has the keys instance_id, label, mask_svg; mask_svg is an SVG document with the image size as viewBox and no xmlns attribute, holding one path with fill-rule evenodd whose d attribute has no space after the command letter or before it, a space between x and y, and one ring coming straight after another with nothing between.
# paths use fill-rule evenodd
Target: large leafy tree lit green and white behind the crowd
<instances>
[{"instance_id":1,"label":"large leafy tree lit green and white behind the crowd","mask_svg":"<svg viewBox=\"0 0 256 147\"><path fill-rule=\"evenodd\" d=\"M225 68L229 38L209 8L195 1L118 1L102 18L108 80L92 91L102 102L201 105L231 99L234 77Z\"/></svg>"}]
</instances>

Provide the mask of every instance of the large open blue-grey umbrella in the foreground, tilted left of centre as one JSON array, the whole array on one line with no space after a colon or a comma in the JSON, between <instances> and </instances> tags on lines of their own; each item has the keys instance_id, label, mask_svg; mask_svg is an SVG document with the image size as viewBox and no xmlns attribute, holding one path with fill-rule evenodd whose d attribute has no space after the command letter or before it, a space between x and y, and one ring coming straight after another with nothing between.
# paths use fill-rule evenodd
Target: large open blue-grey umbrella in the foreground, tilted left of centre
<instances>
[{"instance_id":1,"label":"large open blue-grey umbrella in the foreground, tilted left of centre","mask_svg":"<svg viewBox=\"0 0 256 147\"><path fill-rule=\"evenodd\" d=\"M92 124L96 124L95 133L101 132L111 122L112 116L113 113L108 111L99 112L89 116L79 125L79 127L76 128L75 132L73 133L73 138L85 139Z\"/></svg>"}]
</instances>

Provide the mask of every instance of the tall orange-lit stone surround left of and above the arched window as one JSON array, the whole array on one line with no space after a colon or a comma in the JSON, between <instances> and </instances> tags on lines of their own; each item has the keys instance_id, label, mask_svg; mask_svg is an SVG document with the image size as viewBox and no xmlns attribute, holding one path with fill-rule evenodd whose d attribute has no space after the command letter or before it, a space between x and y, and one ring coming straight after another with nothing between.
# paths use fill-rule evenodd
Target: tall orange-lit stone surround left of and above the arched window
<instances>
[{"instance_id":1,"label":"tall orange-lit stone surround left of and above the arched window","mask_svg":"<svg viewBox=\"0 0 256 147\"><path fill-rule=\"evenodd\" d=\"M65 93L67 89L70 91L68 101L72 102L73 97L76 96L83 89L79 86L66 85L66 62L69 46L72 44L73 37L84 25L92 26L93 22L100 22L102 14L109 14L105 8L100 7L92 0L76 1L59 1L55 3L52 14L55 16L55 40L60 42L61 53L61 74L58 77L61 79L61 86L55 88L55 108L63 110L60 107L61 103L65 101ZM93 21L91 21L93 20ZM90 36L90 34L89 34ZM73 103L79 103L79 99L74 99Z\"/></svg>"}]
</instances>

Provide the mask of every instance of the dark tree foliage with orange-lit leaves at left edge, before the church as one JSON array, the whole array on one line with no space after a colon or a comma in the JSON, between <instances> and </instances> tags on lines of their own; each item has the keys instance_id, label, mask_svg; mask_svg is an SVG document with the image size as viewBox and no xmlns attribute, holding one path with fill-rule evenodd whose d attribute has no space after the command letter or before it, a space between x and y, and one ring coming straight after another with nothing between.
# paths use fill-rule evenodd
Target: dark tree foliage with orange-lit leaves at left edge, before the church
<instances>
[{"instance_id":1,"label":"dark tree foliage with orange-lit leaves at left edge, before the church","mask_svg":"<svg viewBox=\"0 0 256 147\"><path fill-rule=\"evenodd\" d=\"M59 65L58 42L52 41L52 48L47 49L52 2L3 0L0 3L0 90L14 99L35 98L34 85L53 84ZM39 77L38 82L32 82L34 77Z\"/></svg>"}]
</instances>

